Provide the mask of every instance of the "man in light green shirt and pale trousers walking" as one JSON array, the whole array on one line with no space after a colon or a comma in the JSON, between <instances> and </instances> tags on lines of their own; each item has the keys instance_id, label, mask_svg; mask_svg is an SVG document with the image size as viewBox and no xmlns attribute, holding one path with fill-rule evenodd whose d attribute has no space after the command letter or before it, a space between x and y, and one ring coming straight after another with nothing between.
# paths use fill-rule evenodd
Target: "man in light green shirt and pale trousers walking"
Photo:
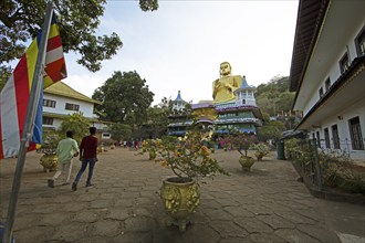
<instances>
[{"instance_id":1,"label":"man in light green shirt and pale trousers walking","mask_svg":"<svg viewBox=\"0 0 365 243\"><path fill-rule=\"evenodd\" d=\"M79 146L75 139L73 139L73 133L71 130L66 131L66 138L62 139L58 144L55 149L58 155L58 171L54 173L52 179L48 180L50 188L54 188L54 181L64 172L65 181L62 186L70 184L70 177L72 170L72 158L79 155Z\"/></svg>"}]
</instances>

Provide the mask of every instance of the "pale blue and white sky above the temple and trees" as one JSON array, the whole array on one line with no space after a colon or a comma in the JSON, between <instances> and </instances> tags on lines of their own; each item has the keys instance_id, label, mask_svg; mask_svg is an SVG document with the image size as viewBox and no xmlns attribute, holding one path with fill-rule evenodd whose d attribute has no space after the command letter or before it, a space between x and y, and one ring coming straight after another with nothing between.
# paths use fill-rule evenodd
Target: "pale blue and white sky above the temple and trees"
<instances>
[{"instance_id":1,"label":"pale blue and white sky above the temple and trees","mask_svg":"<svg viewBox=\"0 0 365 243\"><path fill-rule=\"evenodd\" d=\"M233 75L250 85L289 75L298 1L159 1L159 9L143 12L137 1L107 1L98 34L116 32L124 45L96 73L66 54L64 82L92 96L115 71L136 71L155 93L185 101L211 98L219 64L230 62Z\"/></svg>"}]
</instances>

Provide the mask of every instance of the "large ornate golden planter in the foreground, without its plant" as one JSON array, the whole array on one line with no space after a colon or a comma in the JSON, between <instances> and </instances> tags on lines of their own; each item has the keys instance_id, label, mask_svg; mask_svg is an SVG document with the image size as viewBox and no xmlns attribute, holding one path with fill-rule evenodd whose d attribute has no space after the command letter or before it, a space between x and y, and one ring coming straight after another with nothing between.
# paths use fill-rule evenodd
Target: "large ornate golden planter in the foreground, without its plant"
<instances>
[{"instance_id":1,"label":"large ornate golden planter in the foreground, without its plant","mask_svg":"<svg viewBox=\"0 0 365 243\"><path fill-rule=\"evenodd\" d=\"M200 203L199 186L190 178L168 178L163 182L160 197L171 220L169 224L177 225L184 232L190 223L191 213Z\"/></svg>"}]
</instances>

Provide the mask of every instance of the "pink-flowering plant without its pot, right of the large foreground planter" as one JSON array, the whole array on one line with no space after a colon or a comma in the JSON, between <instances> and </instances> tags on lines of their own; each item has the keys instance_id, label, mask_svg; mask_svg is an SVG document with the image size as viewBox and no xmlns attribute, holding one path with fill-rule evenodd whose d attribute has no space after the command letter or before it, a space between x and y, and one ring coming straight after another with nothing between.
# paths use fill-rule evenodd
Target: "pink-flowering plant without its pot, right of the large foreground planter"
<instances>
[{"instance_id":1,"label":"pink-flowering plant without its pot, right of the large foreground planter","mask_svg":"<svg viewBox=\"0 0 365 243\"><path fill-rule=\"evenodd\" d=\"M233 134L219 141L223 148L236 149L241 156L248 157L248 150L257 141L253 135Z\"/></svg>"}]
</instances>

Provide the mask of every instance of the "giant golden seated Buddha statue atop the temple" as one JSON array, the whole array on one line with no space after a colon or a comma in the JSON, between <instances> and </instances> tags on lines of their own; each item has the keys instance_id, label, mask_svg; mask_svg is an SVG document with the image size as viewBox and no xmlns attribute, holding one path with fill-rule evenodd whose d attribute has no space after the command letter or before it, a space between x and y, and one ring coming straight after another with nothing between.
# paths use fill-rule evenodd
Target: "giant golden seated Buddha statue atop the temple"
<instances>
[{"instance_id":1,"label":"giant golden seated Buddha statue atop the temple","mask_svg":"<svg viewBox=\"0 0 365 243\"><path fill-rule=\"evenodd\" d=\"M231 65L229 62L220 64L220 78L212 84L212 97L215 103L226 103L236 99L233 92L241 86L242 78L240 75L231 75Z\"/></svg>"}]
</instances>

